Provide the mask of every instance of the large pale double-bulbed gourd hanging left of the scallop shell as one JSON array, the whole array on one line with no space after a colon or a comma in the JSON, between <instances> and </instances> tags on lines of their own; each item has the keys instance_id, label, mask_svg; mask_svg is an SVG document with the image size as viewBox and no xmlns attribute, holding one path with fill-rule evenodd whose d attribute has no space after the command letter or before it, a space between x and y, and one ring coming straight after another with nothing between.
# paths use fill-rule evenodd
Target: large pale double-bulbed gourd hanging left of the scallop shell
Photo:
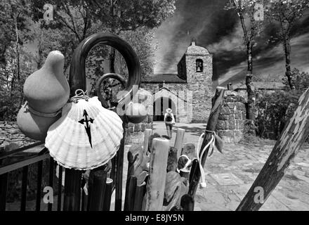
<instances>
[{"instance_id":1,"label":"large pale double-bulbed gourd hanging left of the scallop shell","mask_svg":"<svg viewBox=\"0 0 309 225\"><path fill-rule=\"evenodd\" d=\"M69 100L70 86L63 74L65 57L51 51L40 70L27 77L24 94L27 102L17 116L18 127L31 139L44 141L48 128L57 121Z\"/></svg>"}]
</instances>

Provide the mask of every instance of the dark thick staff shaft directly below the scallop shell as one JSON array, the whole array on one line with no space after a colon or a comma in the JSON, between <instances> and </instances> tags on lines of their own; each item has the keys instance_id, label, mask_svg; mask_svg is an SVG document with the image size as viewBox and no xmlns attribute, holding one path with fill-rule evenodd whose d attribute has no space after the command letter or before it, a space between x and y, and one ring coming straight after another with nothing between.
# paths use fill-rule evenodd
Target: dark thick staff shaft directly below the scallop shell
<instances>
[{"instance_id":1,"label":"dark thick staff shaft directly below the scallop shell","mask_svg":"<svg viewBox=\"0 0 309 225\"><path fill-rule=\"evenodd\" d=\"M65 169L63 211L79 211L81 196L81 171Z\"/></svg>"}]
</instances>

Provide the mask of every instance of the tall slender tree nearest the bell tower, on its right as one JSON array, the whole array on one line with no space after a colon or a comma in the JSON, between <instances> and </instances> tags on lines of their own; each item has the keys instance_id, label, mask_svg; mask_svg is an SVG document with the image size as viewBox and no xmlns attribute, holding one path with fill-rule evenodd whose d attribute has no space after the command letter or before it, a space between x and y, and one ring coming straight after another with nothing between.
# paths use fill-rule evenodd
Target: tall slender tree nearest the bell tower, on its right
<instances>
[{"instance_id":1,"label":"tall slender tree nearest the bell tower, on its right","mask_svg":"<svg viewBox=\"0 0 309 225\"><path fill-rule=\"evenodd\" d=\"M248 93L248 119L251 124L254 124L254 108L256 101L256 91L252 84L252 77L254 75L253 67L253 50L256 46L255 38L260 34L263 22L256 20L258 13L257 0L230 0L228 6L225 6L225 10L233 9L237 12L240 23L242 25L242 31L244 32L244 46L246 47L246 59L247 59L247 73L246 73L246 90Z\"/></svg>"}]
</instances>

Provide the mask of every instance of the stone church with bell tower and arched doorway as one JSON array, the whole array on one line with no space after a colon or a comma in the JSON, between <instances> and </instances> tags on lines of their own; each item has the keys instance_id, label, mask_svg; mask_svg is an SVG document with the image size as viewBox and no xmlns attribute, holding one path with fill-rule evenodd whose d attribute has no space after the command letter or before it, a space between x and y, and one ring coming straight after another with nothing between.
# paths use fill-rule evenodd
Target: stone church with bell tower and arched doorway
<instances>
[{"instance_id":1,"label":"stone church with bell tower and arched doorway","mask_svg":"<svg viewBox=\"0 0 309 225\"><path fill-rule=\"evenodd\" d=\"M213 56L195 41L180 59L177 74L147 77L140 87L152 94L153 121L171 108L176 122L207 122L213 97Z\"/></svg>"}]
</instances>

